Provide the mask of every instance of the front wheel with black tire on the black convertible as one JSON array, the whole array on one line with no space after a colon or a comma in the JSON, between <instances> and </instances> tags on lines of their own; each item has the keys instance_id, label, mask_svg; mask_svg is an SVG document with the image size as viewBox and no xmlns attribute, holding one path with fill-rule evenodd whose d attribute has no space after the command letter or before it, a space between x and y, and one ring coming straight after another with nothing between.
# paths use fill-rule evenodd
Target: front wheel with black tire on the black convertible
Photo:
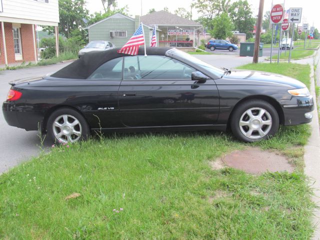
<instances>
[{"instance_id":1,"label":"front wheel with black tire on the black convertible","mask_svg":"<svg viewBox=\"0 0 320 240\"><path fill-rule=\"evenodd\" d=\"M264 113L263 110L265 111ZM252 113L251 118L246 113L247 111ZM256 113L256 115L253 113ZM259 118L260 113L263 113L263 115ZM277 111L270 103L264 100L252 99L244 101L236 106L230 117L232 133L236 138L245 142L268 139L275 134L279 127ZM241 124L244 123L244 125L240 126L240 120ZM250 124L245 125L246 122L250 122ZM263 122L265 122L265 124ZM260 134L260 132L265 133L265 135ZM248 134L249 137L245 135L245 133Z\"/></svg>"}]
</instances>

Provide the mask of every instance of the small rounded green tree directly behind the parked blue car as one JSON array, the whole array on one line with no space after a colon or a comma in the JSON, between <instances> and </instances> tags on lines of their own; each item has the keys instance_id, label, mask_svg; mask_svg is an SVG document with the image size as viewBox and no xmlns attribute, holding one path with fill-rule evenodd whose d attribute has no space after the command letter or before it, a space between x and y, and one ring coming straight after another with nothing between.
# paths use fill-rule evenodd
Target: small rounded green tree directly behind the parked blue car
<instances>
[{"instance_id":1,"label":"small rounded green tree directly behind the parked blue car","mask_svg":"<svg viewBox=\"0 0 320 240\"><path fill-rule=\"evenodd\" d=\"M213 30L211 35L216 39L225 39L232 36L233 24L226 12L214 17L212 20Z\"/></svg>"}]
</instances>

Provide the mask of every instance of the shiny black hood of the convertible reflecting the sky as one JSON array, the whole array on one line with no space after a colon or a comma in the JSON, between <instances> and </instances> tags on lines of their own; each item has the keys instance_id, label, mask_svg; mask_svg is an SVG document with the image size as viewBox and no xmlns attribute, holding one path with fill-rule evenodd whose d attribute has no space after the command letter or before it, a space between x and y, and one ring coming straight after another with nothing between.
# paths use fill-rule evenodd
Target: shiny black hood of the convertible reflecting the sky
<instances>
[{"instance_id":1,"label":"shiny black hood of the convertible reflecting the sky","mask_svg":"<svg viewBox=\"0 0 320 240\"><path fill-rule=\"evenodd\" d=\"M292 77L264 71L232 69L231 73L225 74L222 79L238 79L244 81L243 83L248 81L248 83L282 85L289 88L305 87L304 83Z\"/></svg>"}]
</instances>

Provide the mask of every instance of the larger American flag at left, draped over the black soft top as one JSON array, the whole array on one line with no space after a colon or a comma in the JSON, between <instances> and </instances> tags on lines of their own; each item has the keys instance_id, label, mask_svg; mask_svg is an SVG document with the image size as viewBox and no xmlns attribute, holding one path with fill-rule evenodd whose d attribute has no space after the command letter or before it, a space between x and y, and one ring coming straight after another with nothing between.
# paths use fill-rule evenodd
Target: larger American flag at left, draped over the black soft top
<instances>
[{"instance_id":1,"label":"larger American flag at left, draped over the black soft top","mask_svg":"<svg viewBox=\"0 0 320 240\"><path fill-rule=\"evenodd\" d=\"M119 53L125 53L129 55L138 54L139 46L144 44L144 33L142 29L142 22L139 25L138 29L134 32L131 38L121 47L121 49L117 50Z\"/></svg>"}]
</instances>

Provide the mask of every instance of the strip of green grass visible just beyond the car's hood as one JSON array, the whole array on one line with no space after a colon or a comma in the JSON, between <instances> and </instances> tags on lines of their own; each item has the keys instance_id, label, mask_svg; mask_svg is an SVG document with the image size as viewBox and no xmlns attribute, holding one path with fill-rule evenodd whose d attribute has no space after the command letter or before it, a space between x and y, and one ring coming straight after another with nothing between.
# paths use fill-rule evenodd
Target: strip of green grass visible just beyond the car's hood
<instances>
[{"instance_id":1,"label":"strip of green grass visible just beyond the car's hood","mask_svg":"<svg viewBox=\"0 0 320 240\"><path fill-rule=\"evenodd\" d=\"M272 63L259 63L259 64L246 64L238 69L249 69L249 70L259 70L274 72L286 76L293 77L302 81L308 88L310 87L310 66L296 63L287 63L287 62L272 62Z\"/></svg>"}]
</instances>

